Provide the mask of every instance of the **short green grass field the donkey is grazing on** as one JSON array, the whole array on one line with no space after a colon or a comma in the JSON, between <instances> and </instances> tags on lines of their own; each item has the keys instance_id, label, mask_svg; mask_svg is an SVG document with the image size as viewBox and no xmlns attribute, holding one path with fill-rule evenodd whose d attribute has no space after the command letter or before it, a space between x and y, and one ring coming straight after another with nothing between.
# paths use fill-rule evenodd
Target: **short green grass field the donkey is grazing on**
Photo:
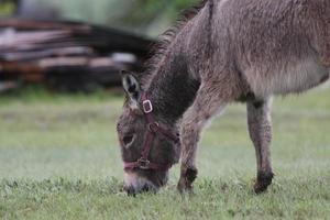
<instances>
[{"instance_id":1,"label":"short green grass field the donkey is grazing on","mask_svg":"<svg viewBox=\"0 0 330 220\"><path fill-rule=\"evenodd\" d=\"M233 105L204 134L194 196L176 191L176 165L157 195L128 197L121 105L107 92L0 97L0 219L330 219L330 89L274 101L276 176L260 196L245 108Z\"/></svg>"}]
</instances>

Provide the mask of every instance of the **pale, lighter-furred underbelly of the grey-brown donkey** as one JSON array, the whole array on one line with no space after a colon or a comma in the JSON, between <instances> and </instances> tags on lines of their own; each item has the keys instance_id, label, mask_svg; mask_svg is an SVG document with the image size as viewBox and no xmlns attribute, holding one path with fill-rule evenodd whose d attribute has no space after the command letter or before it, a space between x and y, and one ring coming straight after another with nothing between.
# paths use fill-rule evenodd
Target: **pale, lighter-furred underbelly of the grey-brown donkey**
<instances>
[{"instance_id":1,"label":"pale, lighter-furred underbelly of the grey-brown donkey","mask_svg":"<svg viewBox=\"0 0 330 220\"><path fill-rule=\"evenodd\" d=\"M330 68L312 59L300 61L295 65L288 63L285 66L267 68L267 73L262 70L264 68L246 73L248 82L256 97L301 92L326 81L330 74Z\"/></svg>"}]
</instances>

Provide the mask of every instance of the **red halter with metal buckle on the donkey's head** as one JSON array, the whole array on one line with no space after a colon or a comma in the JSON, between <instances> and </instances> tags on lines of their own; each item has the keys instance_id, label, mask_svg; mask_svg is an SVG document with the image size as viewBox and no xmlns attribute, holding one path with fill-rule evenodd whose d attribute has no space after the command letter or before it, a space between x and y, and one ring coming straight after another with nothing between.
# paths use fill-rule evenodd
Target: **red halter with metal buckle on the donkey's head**
<instances>
[{"instance_id":1,"label":"red halter with metal buckle on the donkey's head","mask_svg":"<svg viewBox=\"0 0 330 220\"><path fill-rule=\"evenodd\" d=\"M152 114L153 105L151 100L147 98L146 92L142 94L141 103L142 103L143 113L147 122L146 136L143 143L144 147L141 153L141 158L139 158L136 162L124 162L124 169L141 168L141 169L167 170L172 167L172 164L157 164L148 161L148 154L152 147L152 143L157 133L166 136L167 139L170 139L175 143L179 142L179 136L177 134L174 134L169 130L165 129L163 125L161 125L158 122L155 121Z\"/></svg>"}]
</instances>

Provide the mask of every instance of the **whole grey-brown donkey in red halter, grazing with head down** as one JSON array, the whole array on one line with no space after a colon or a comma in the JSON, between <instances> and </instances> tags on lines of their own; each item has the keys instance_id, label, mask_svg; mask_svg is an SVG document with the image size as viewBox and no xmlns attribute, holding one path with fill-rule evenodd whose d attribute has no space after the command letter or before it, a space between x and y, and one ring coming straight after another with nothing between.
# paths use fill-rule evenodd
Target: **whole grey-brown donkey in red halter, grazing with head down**
<instances>
[{"instance_id":1,"label":"whole grey-brown donkey in red halter, grazing with head down","mask_svg":"<svg viewBox=\"0 0 330 220\"><path fill-rule=\"evenodd\" d=\"M329 78L330 0L208 0L164 36L146 73L122 73L117 129L128 193L164 186L179 157L178 189L191 190L200 132L234 101L246 102L254 190L265 191L274 176L272 96Z\"/></svg>"}]
</instances>

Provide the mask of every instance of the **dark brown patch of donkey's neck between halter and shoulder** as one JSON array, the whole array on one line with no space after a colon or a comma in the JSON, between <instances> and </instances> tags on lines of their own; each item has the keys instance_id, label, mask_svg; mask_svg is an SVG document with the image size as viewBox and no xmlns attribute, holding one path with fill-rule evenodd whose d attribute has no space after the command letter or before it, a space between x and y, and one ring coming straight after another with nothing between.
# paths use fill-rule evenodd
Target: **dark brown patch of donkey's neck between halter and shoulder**
<instances>
[{"instance_id":1,"label":"dark brown patch of donkey's neck between halter and shoulder","mask_svg":"<svg viewBox=\"0 0 330 220\"><path fill-rule=\"evenodd\" d=\"M188 73L180 52L168 52L160 62L147 88L155 116L176 123L191 105L200 81Z\"/></svg>"}]
</instances>

